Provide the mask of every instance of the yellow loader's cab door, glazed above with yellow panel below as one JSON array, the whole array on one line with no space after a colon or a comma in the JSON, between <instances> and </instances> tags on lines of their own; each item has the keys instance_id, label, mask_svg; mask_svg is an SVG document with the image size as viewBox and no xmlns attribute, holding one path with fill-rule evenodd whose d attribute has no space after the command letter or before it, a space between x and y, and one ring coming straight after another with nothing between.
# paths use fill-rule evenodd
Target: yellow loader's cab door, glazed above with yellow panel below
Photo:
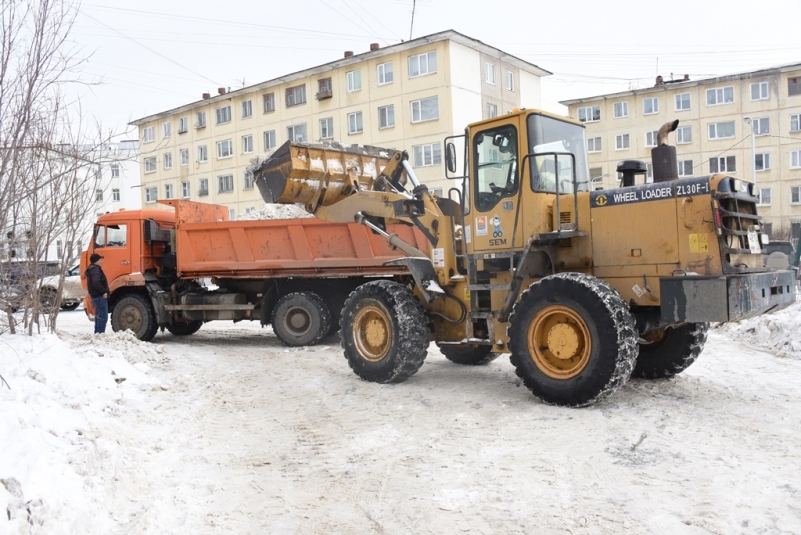
<instances>
[{"instance_id":1,"label":"yellow loader's cab door, glazed above with yellow panel below","mask_svg":"<svg viewBox=\"0 0 801 535\"><path fill-rule=\"evenodd\" d=\"M509 252L513 236L514 247L522 247L522 233L514 232L520 198L520 136L516 123L506 120L490 126L474 133L470 142L474 209L465 224L471 227L466 231L472 234L470 241L476 252Z\"/></svg>"}]
</instances>

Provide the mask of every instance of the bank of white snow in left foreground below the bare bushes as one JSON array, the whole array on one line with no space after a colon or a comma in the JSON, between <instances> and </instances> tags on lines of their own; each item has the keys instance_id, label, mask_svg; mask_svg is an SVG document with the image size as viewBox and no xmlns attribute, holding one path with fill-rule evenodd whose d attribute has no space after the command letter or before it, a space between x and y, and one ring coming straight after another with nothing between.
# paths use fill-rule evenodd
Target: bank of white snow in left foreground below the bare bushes
<instances>
[{"instance_id":1,"label":"bank of white snow in left foreground below the bare bushes","mask_svg":"<svg viewBox=\"0 0 801 535\"><path fill-rule=\"evenodd\" d=\"M107 422L162 388L142 362L159 352L131 336L75 335L77 351L53 334L0 336L0 531L114 531L97 514L121 457Z\"/></svg>"}]
</instances>

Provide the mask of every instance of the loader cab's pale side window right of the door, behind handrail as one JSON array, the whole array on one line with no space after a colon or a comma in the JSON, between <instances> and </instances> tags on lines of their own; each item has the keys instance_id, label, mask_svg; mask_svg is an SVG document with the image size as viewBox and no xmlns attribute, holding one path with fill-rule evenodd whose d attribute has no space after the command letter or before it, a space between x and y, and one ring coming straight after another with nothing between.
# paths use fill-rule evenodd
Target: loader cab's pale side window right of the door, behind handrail
<instances>
[{"instance_id":1,"label":"loader cab's pale side window right of the door, behind handrail","mask_svg":"<svg viewBox=\"0 0 801 535\"><path fill-rule=\"evenodd\" d=\"M588 191L590 171L584 128L536 114L528 116L527 126L529 154L542 155L529 158L531 189L556 193L558 187L559 193L572 193L575 166L577 190ZM559 153L571 153L573 157Z\"/></svg>"}]
</instances>

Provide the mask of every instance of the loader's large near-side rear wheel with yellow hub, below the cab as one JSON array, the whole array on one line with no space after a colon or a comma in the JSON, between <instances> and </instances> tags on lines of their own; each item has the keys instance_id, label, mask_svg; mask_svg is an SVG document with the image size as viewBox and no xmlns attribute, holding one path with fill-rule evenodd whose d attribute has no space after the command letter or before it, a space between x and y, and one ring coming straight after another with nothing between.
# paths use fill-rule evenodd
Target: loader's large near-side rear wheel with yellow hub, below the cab
<instances>
[{"instance_id":1,"label":"loader's large near-side rear wheel with yellow hub, below the cab","mask_svg":"<svg viewBox=\"0 0 801 535\"><path fill-rule=\"evenodd\" d=\"M597 403L621 388L637 359L628 306L606 282L559 273L523 292L510 317L509 349L517 375L542 401Z\"/></svg>"}]
</instances>

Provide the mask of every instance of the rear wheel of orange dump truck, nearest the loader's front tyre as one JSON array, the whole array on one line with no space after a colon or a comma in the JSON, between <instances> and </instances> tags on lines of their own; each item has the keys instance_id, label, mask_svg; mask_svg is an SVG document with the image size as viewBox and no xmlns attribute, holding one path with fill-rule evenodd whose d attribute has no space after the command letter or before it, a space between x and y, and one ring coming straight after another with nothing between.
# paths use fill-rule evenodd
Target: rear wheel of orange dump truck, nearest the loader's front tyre
<instances>
[{"instance_id":1,"label":"rear wheel of orange dump truck, nearest the loader's front tyre","mask_svg":"<svg viewBox=\"0 0 801 535\"><path fill-rule=\"evenodd\" d=\"M331 328L331 312L325 301L312 292L287 294L275 304L275 335L288 346L316 344Z\"/></svg>"}]
</instances>

